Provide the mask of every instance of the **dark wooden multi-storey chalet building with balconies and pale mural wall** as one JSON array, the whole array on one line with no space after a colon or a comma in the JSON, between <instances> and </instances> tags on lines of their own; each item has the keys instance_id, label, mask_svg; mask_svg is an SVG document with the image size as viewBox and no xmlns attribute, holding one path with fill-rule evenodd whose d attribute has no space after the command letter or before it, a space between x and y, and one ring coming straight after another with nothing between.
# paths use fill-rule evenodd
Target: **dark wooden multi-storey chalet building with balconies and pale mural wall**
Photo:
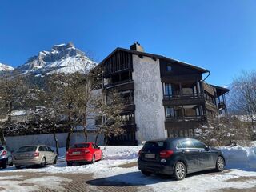
<instances>
[{"instance_id":1,"label":"dark wooden multi-storey chalet building with balconies and pale mural wall","mask_svg":"<svg viewBox=\"0 0 256 192\"><path fill-rule=\"evenodd\" d=\"M219 114L226 115L229 90L209 85L209 70L144 52L138 42L130 50L117 48L101 63L102 93L115 89L125 99L126 134L109 139L111 145L188 136Z\"/></svg>"}]
</instances>

